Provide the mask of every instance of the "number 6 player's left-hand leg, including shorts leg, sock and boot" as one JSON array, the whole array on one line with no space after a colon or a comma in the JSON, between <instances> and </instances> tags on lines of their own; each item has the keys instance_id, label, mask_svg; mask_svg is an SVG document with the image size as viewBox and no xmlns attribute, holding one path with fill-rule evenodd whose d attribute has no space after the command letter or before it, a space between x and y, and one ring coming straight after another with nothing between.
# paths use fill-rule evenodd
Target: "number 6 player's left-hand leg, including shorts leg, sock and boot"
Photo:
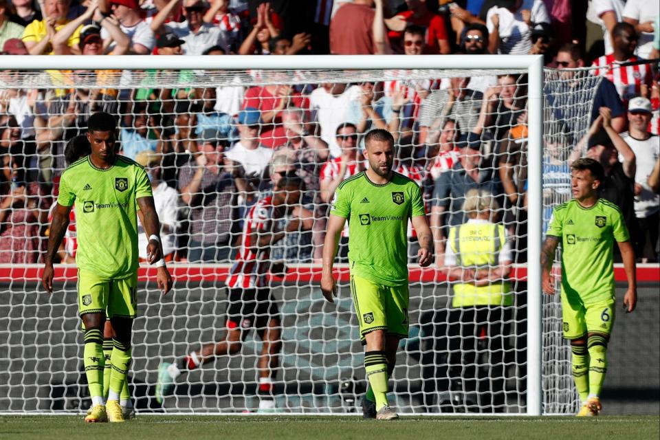
<instances>
[{"instance_id":1,"label":"number 6 player's left-hand leg, including shorts leg, sock and boot","mask_svg":"<svg viewBox=\"0 0 660 440\"><path fill-rule=\"evenodd\" d=\"M586 322L584 304L580 298L568 298L562 293L562 330L571 344L571 373L575 389L580 395L579 416L591 415L586 407L589 395L589 353L586 349Z\"/></svg>"}]
</instances>

